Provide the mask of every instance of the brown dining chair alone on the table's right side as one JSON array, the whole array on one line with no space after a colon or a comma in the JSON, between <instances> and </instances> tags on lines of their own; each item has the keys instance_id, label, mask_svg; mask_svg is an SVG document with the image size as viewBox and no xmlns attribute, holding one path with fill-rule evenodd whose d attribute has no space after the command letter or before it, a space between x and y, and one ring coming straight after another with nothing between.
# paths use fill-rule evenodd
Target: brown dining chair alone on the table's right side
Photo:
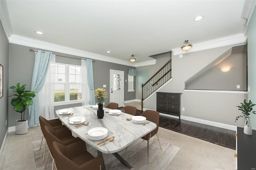
<instances>
[{"instance_id":1,"label":"brown dining chair alone on the table's right side","mask_svg":"<svg viewBox=\"0 0 256 170\"><path fill-rule=\"evenodd\" d=\"M149 140L150 140L150 138L152 138L155 134L156 134L156 136L157 136L157 139L158 139L160 148L162 149L162 146L161 146L159 137L158 137L158 135L157 135L158 126L159 126L159 112L158 112L158 111L152 111L152 110L146 110L146 111L144 111L144 112L141 114L141 116L146 117L147 120L150 121L150 122L156 123L156 126L157 126L153 131L149 132L148 134L146 134L145 136L142 137L142 139L147 140L147 142L148 142L148 164L149 164Z\"/></svg>"}]
</instances>

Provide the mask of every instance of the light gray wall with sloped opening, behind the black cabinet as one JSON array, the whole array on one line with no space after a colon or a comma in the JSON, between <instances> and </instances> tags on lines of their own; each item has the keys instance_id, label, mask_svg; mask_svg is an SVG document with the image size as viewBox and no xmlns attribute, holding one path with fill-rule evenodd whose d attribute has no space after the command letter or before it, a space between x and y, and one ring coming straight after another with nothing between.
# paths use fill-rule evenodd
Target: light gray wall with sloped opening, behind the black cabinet
<instances>
[{"instance_id":1,"label":"light gray wall with sloped opening, behind the black cabinet","mask_svg":"<svg viewBox=\"0 0 256 170\"><path fill-rule=\"evenodd\" d=\"M231 47L229 45L186 53L182 58L179 58L178 55L172 56L172 81L162 87L159 92L182 93L182 107L185 109L181 113L182 116L242 127L244 121L234 122L236 116L240 114L236 105L246 99L247 94L184 91L186 80ZM156 110L156 94L144 102L144 109Z\"/></svg>"}]
</instances>

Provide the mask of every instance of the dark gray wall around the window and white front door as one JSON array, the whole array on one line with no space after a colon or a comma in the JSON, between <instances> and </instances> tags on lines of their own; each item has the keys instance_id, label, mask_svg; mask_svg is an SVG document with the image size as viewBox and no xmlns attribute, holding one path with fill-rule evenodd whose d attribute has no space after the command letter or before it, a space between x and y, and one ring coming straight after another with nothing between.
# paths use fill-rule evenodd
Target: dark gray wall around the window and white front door
<instances>
[{"instance_id":1,"label":"dark gray wall around the window and white front door","mask_svg":"<svg viewBox=\"0 0 256 170\"><path fill-rule=\"evenodd\" d=\"M9 85L12 86L16 85L16 83L20 84L27 84L26 89L31 89L31 82L32 82L32 73L34 68L34 52L29 51L32 47L27 47L23 45L17 44L9 44ZM43 49L44 50L44 49ZM52 51L53 53L56 53ZM60 55L66 55L63 53L56 53ZM71 57L77 57L74 55L68 55ZM64 62L64 57L56 57L56 60ZM66 58L68 59L68 58ZM70 61L71 62L71 61ZM74 59L72 63L74 63ZM119 65L115 63L105 62L105 61L98 61L93 62L93 71L94 71L94 88L103 87L106 85L106 91L109 94L109 76L110 76L110 69L124 71L124 80L128 79L128 67L126 65ZM136 82L136 81L135 81ZM9 89L9 93L12 94L12 90ZM128 92L128 82L124 84L124 100L132 100L135 99L135 91ZM15 121L20 119L20 113L16 113L13 111L13 107L10 104L11 98L9 98L9 111L8 111L8 122L9 126L12 127L15 125ZM105 104L108 104L107 101ZM62 106L55 106L54 110L63 109L67 107L74 107L77 105L81 105L81 103L74 104L74 105L62 105ZM25 114L25 119L28 119L28 113Z\"/></svg>"}]
</instances>

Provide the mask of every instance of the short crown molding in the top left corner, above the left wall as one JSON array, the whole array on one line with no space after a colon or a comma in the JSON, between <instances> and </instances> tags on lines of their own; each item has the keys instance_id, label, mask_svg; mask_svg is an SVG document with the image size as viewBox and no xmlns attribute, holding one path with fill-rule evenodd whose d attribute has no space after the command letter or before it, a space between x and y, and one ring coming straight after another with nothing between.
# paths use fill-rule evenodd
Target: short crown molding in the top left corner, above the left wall
<instances>
[{"instance_id":1,"label":"short crown molding in the top left corner, above the left wall","mask_svg":"<svg viewBox=\"0 0 256 170\"><path fill-rule=\"evenodd\" d=\"M12 36L13 32L5 0L0 0L0 20L2 22L6 37L9 41L9 37Z\"/></svg>"}]
</instances>

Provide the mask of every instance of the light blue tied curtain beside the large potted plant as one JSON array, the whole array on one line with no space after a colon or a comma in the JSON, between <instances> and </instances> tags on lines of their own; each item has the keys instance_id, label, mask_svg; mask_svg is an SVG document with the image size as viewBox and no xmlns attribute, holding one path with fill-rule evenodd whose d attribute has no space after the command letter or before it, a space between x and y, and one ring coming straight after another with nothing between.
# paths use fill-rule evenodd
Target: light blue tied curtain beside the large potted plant
<instances>
[{"instance_id":1,"label":"light blue tied curtain beside the large potted plant","mask_svg":"<svg viewBox=\"0 0 256 170\"><path fill-rule=\"evenodd\" d=\"M31 91L36 92L36 96L33 98L34 104L30 106L28 112L28 125L36 125L39 123L40 116L40 106L38 92L44 86L47 71L50 67L50 61L52 58L52 52L45 51L42 52L38 50L35 55L34 71L31 83Z\"/></svg>"}]
</instances>

